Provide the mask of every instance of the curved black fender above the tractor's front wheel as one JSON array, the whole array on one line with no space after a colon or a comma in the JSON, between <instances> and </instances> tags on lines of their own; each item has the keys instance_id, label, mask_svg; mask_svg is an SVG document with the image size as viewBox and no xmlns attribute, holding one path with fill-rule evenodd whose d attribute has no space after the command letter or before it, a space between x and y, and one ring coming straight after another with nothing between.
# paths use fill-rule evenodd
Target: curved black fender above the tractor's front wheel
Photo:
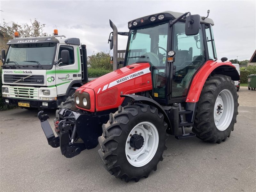
<instances>
[{"instance_id":1,"label":"curved black fender above the tractor's front wheel","mask_svg":"<svg viewBox=\"0 0 256 192\"><path fill-rule=\"evenodd\" d=\"M152 106L156 107L159 110L159 112L161 112L164 115L164 121L168 124L168 131L172 132L172 125L171 125L168 115L166 114L166 112L162 108L162 106L159 105L159 103L157 103L155 100L150 99L148 97L144 97L144 96L140 96L140 95L133 95L133 94L120 95L120 97L126 97L126 98L129 97L135 101L140 101L144 104L148 104L148 105L152 105Z\"/></svg>"}]
</instances>

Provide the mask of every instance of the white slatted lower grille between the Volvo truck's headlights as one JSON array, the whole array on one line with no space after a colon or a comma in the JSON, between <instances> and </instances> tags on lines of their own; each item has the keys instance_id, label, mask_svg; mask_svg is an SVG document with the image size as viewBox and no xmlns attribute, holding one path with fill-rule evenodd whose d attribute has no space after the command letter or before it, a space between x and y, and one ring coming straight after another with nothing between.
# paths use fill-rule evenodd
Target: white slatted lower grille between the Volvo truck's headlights
<instances>
[{"instance_id":1,"label":"white slatted lower grille between the Volvo truck's headlights","mask_svg":"<svg viewBox=\"0 0 256 192\"><path fill-rule=\"evenodd\" d=\"M10 87L10 97L20 99L37 99L37 88Z\"/></svg>"}]
</instances>

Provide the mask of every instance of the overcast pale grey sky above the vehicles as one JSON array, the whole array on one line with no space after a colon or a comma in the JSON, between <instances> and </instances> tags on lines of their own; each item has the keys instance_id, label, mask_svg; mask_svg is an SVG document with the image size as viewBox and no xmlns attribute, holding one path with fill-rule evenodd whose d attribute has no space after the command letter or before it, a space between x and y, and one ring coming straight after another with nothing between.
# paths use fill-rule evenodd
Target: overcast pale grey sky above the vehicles
<instances>
[{"instance_id":1,"label":"overcast pale grey sky above the vehicles","mask_svg":"<svg viewBox=\"0 0 256 192\"><path fill-rule=\"evenodd\" d=\"M218 60L250 60L256 49L256 1L12 1L0 0L0 25L30 23L37 19L46 24L44 32L77 37L87 45L87 55L109 51L111 19L118 31L129 31L128 21L164 11L191 12L214 21L213 33ZM118 50L126 49L127 36L118 36Z\"/></svg>"}]
</instances>

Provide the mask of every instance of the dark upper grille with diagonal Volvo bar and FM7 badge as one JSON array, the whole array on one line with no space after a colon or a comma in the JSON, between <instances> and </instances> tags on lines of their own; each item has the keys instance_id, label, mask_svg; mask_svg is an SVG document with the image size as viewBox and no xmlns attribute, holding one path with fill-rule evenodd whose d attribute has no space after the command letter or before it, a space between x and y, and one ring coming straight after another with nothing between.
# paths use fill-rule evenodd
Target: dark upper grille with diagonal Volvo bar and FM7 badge
<instances>
[{"instance_id":1,"label":"dark upper grille with diagonal Volvo bar and FM7 badge","mask_svg":"<svg viewBox=\"0 0 256 192\"><path fill-rule=\"evenodd\" d=\"M44 84L43 75L7 75L4 74L5 83Z\"/></svg>"}]
</instances>

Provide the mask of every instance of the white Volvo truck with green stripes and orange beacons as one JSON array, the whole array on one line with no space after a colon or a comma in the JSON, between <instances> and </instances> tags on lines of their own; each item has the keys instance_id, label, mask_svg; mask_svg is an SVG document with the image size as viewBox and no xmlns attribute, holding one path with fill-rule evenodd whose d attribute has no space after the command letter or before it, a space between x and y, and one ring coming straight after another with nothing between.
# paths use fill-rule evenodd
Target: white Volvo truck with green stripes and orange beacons
<instances>
[{"instance_id":1,"label":"white Volvo truck with green stripes and orange beacons","mask_svg":"<svg viewBox=\"0 0 256 192\"><path fill-rule=\"evenodd\" d=\"M15 38L2 50L2 94L6 105L25 109L58 108L88 82L86 45L78 38Z\"/></svg>"}]
</instances>

